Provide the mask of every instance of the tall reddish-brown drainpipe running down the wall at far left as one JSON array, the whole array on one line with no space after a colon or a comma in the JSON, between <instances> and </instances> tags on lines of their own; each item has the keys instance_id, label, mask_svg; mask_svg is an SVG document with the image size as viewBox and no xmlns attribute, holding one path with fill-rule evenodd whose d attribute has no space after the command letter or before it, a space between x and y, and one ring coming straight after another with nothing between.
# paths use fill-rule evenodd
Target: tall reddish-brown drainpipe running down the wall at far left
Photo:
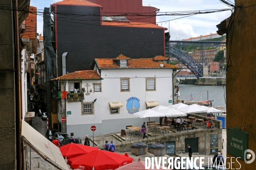
<instances>
[{"instance_id":1,"label":"tall reddish-brown drainpipe running down the wall at far left","mask_svg":"<svg viewBox=\"0 0 256 170\"><path fill-rule=\"evenodd\" d=\"M17 0L13 0L13 7L18 8ZM17 170L21 170L21 143L20 143L20 53L19 53L19 24L18 11L14 10L14 34L15 34L15 127L16 127L16 162Z\"/></svg>"}]
</instances>

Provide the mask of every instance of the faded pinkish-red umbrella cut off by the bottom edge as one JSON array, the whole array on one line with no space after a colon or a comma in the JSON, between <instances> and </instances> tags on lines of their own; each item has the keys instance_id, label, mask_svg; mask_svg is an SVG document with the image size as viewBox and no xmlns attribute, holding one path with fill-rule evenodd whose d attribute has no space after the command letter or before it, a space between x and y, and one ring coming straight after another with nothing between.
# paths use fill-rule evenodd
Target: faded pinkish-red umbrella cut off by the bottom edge
<instances>
[{"instance_id":1,"label":"faded pinkish-red umbrella cut off by the bottom edge","mask_svg":"<svg viewBox=\"0 0 256 170\"><path fill-rule=\"evenodd\" d=\"M154 164L154 169L150 166L150 170L157 170L156 164ZM139 158L139 161L133 162L131 164L127 164L125 166L119 167L116 170L145 170L145 162L141 161ZM163 170L163 167L160 166L159 170Z\"/></svg>"}]
</instances>

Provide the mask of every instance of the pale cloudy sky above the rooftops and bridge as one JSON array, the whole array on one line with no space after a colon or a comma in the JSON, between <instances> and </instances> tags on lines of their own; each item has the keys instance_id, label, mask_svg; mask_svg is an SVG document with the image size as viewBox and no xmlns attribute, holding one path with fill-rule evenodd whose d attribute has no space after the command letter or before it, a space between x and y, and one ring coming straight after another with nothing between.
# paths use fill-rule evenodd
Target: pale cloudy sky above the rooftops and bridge
<instances>
[{"instance_id":1,"label":"pale cloudy sky above the rooftops and bridge","mask_svg":"<svg viewBox=\"0 0 256 170\"><path fill-rule=\"evenodd\" d=\"M50 7L50 4L61 0L31 0L30 6L35 6L37 9ZM234 0L230 0L234 3ZM229 8L219 0L143 0L143 5L150 5L160 9L160 12L172 11L195 11L207 9L223 9ZM222 20L230 17L231 11L223 11L212 14L197 14L190 17L185 17L177 20L180 16L158 16L157 22L172 20L158 23L159 26L168 28L166 32L170 32L170 40L182 40L190 37L198 37L216 33L218 25ZM43 17L37 17L37 31L43 34Z\"/></svg>"}]
</instances>

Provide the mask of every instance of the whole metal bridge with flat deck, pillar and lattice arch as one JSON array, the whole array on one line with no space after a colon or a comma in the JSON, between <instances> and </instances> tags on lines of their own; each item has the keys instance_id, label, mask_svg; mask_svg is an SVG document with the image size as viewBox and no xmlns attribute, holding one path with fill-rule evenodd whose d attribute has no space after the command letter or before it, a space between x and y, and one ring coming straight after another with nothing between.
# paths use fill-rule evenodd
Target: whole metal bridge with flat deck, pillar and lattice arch
<instances>
[{"instance_id":1,"label":"whole metal bridge with flat deck, pillar and lattice arch","mask_svg":"<svg viewBox=\"0 0 256 170\"><path fill-rule=\"evenodd\" d=\"M180 49L173 47L174 45L180 46ZM193 45L193 46L202 46L201 51L201 63L193 59L190 55L182 51L182 45ZM226 42L215 42L215 41L170 41L169 52L180 62L186 65L190 71L196 77L204 77L203 66L206 65L206 60L204 60L204 47L205 46L226 46ZM202 64L204 63L204 65Z\"/></svg>"}]
</instances>

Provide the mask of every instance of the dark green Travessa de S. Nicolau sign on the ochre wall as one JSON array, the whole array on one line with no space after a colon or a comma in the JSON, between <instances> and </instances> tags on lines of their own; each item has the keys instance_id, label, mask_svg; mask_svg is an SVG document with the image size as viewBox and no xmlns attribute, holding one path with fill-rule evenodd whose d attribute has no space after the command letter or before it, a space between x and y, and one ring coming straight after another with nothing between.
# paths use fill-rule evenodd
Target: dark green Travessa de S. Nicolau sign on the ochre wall
<instances>
[{"instance_id":1,"label":"dark green Travessa de S. Nicolau sign on the ochre wall","mask_svg":"<svg viewBox=\"0 0 256 170\"><path fill-rule=\"evenodd\" d=\"M248 133L241 131L239 127L228 128L227 152L244 160L244 151L248 149Z\"/></svg>"}]
</instances>

